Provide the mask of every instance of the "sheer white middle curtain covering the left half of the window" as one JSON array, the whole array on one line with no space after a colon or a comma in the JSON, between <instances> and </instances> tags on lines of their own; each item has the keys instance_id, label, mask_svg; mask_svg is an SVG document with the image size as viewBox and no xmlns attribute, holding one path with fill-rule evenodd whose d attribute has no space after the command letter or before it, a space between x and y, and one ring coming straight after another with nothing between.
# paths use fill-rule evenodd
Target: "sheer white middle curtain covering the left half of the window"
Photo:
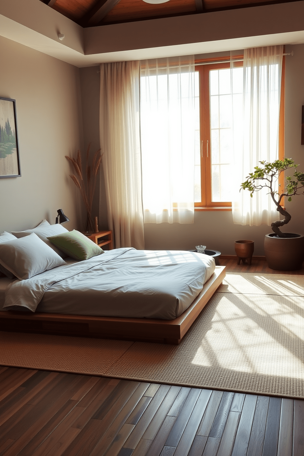
<instances>
[{"instance_id":1,"label":"sheer white middle curtain covering the left half of the window","mask_svg":"<svg viewBox=\"0 0 304 456\"><path fill-rule=\"evenodd\" d=\"M194 56L140 62L144 223L194 222Z\"/></svg>"}]
</instances>

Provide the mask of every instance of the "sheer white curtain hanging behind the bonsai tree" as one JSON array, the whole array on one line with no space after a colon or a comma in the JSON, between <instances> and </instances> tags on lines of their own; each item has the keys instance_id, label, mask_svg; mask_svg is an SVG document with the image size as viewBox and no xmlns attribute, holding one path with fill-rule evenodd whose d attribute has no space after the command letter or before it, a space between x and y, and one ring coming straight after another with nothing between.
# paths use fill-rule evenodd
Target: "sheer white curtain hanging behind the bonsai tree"
<instances>
[{"instance_id":1,"label":"sheer white curtain hanging behind the bonsai tree","mask_svg":"<svg viewBox=\"0 0 304 456\"><path fill-rule=\"evenodd\" d=\"M233 127L234 140L238 145L241 142L241 147L234 148L232 178L232 216L236 224L270 225L278 218L267 189L254 192L252 198L250 192L239 190L259 161L278 159L282 59L283 46L244 50L242 128Z\"/></svg>"}]
</instances>

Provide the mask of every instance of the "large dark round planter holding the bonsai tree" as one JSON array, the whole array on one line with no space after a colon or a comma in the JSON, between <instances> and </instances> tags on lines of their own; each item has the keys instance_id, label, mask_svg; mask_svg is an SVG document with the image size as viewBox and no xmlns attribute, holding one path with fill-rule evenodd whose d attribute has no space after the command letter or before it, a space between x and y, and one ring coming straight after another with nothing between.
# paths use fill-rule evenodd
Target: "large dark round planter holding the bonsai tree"
<instances>
[{"instance_id":1,"label":"large dark round planter holding the bonsai tree","mask_svg":"<svg viewBox=\"0 0 304 456\"><path fill-rule=\"evenodd\" d=\"M304 236L293 234L290 238L276 238L274 233L266 234L265 257L270 269L296 271L302 269L304 261Z\"/></svg>"}]
</instances>

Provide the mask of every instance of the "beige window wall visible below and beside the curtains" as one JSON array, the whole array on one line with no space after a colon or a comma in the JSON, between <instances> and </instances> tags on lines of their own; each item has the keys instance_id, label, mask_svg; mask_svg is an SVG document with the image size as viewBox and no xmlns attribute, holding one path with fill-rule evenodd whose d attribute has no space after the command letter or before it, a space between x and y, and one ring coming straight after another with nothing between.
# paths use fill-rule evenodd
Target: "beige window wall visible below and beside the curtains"
<instances>
[{"instance_id":1,"label":"beige window wall visible below and beside the curtains","mask_svg":"<svg viewBox=\"0 0 304 456\"><path fill-rule=\"evenodd\" d=\"M286 46L286 52L294 51L294 56L286 57L285 81L285 155L299 163L304 171L304 146L301 146L301 106L304 104L304 45ZM83 71L83 70L82 70ZM86 78L82 78L82 90L90 94L91 105L83 112L83 117L98 115L94 97L99 97L96 69L86 68ZM95 81L93 84L92 82ZM88 87L88 83L90 87ZM87 119L88 120L88 119ZM86 129L85 129L86 130ZM91 131L91 135L94 133ZM96 138L98 133L95 133ZM97 139L96 139L97 140ZM250 170L248 170L250 171ZM103 197L101 196L101 199ZM292 219L285 231L304 233L304 197L294 197L286 203ZM232 212L195 212L192 225L161 223L144 225L146 249L193 249L197 244L206 244L209 249L220 250L222 254L235 254L234 241L252 239L255 255L263 255L264 236L271 232L267 225L250 227L235 225Z\"/></svg>"}]
</instances>

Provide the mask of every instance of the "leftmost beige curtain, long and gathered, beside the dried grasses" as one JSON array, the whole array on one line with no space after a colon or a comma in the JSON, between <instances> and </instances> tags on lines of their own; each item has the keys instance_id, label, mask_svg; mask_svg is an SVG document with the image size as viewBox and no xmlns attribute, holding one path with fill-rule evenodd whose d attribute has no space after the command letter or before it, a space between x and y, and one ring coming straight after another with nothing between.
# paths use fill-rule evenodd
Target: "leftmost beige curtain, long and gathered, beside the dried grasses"
<instances>
[{"instance_id":1,"label":"leftmost beige curtain, long and gathered, beside the dried grasses","mask_svg":"<svg viewBox=\"0 0 304 456\"><path fill-rule=\"evenodd\" d=\"M100 65L100 146L115 246L144 249L139 61Z\"/></svg>"}]
</instances>

